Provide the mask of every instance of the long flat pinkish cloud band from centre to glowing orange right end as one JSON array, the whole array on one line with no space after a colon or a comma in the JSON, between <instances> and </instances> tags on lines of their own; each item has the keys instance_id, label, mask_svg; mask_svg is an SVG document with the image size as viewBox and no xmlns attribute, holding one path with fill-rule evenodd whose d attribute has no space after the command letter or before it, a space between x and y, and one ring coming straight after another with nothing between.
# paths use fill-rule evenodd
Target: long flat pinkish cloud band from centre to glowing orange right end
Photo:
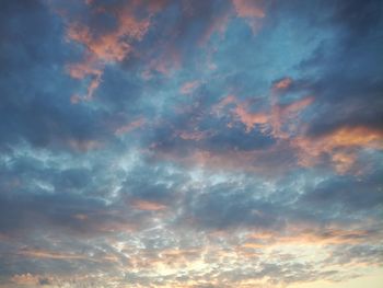
<instances>
[{"instance_id":1,"label":"long flat pinkish cloud band from centre to glowing orange right end","mask_svg":"<svg viewBox=\"0 0 383 288\"><path fill-rule=\"evenodd\" d=\"M255 150L217 151L193 148L187 152L159 150L151 146L152 157L185 165L225 171L256 172L264 176L283 174L292 166L314 166L329 157L330 166L339 174L359 173L353 166L360 149L383 150L383 131L367 127L343 127L320 137L289 135L276 138L275 145Z\"/></svg>"}]
</instances>

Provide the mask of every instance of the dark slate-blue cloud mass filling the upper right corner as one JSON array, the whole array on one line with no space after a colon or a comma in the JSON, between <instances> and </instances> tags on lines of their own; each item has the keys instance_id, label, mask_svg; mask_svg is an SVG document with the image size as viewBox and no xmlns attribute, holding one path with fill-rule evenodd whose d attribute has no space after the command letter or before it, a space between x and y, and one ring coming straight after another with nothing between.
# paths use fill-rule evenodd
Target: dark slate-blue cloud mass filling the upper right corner
<instances>
[{"instance_id":1,"label":"dark slate-blue cloud mass filling the upper right corner","mask_svg":"<svg viewBox=\"0 0 383 288\"><path fill-rule=\"evenodd\" d=\"M303 71L318 71L309 80L311 93L322 105L310 133L358 125L381 129L383 79L382 68L375 64L382 59L382 4L335 1L330 9L329 23L337 32L301 62Z\"/></svg>"}]
</instances>

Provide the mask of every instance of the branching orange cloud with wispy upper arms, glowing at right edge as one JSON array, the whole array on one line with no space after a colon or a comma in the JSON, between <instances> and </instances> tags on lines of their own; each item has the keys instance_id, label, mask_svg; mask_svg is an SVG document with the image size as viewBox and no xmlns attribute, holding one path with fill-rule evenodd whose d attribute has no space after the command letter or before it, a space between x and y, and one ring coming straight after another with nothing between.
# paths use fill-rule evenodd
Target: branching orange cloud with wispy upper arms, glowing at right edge
<instances>
[{"instance_id":1,"label":"branching orange cloud with wispy upper arms, glowing at right edge","mask_svg":"<svg viewBox=\"0 0 383 288\"><path fill-rule=\"evenodd\" d=\"M290 78L286 78L275 84L272 89L286 89L291 84L291 81ZM323 160L323 155L327 155L335 171L345 174L355 166L360 149L383 149L383 131L363 126L340 127L316 137L304 136L305 126L302 125L298 116L313 102L313 96L306 96L282 105L279 103L278 94L271 91L270 111L251 113L244 102L234 95L228 95L212 106L211 113L221 117L227 105L233 104L234 108L231 108L230 112L234 120L244 124L247 133L259 125L262 133L270 134L278 140L277 145L272 149L262 152L231 151L219 154L216 151L194 151L193 160L189 159L189 161L198 165L242 166L245 170L258 171L256 163L260 163L265 168L271 164L268 163L268 160L271 161L271 154L289 151L288 153L298 155L297 164L303 166L316 165ZM232 123L229 125L232 126ZM183 161L187 161L186 159L187 157Z\"/></svg>"}]
</instances>

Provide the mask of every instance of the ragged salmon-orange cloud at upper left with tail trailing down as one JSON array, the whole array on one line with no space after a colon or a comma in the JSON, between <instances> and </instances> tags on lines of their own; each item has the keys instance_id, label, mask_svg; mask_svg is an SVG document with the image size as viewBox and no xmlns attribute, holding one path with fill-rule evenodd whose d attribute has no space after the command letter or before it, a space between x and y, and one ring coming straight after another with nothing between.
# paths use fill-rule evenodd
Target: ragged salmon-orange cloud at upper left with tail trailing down
<instances>
[{"instance_id":1,"label":"ragged salmon-orange cloud at upper left with tail trailing down","mask_svg":"<svg viewBox=\"0 0 383 288\"><path fill-rule=\"evenodd\" d=\"M73 95L71 97L73 104L92 100L101 84L105 65L119 62L128 57L134 50L134 42L141 41L148 32L150 20L138 20L132 8L126 5L113 11L102 10L102 13L111 13L117 19L116 28L102 34L95 34L81 21L69 22L67 39L85 47L86 55L82 62L69 65L68 72L74 79L91 78L86 94L84 96Z\"/></svg>"}]
</instances>

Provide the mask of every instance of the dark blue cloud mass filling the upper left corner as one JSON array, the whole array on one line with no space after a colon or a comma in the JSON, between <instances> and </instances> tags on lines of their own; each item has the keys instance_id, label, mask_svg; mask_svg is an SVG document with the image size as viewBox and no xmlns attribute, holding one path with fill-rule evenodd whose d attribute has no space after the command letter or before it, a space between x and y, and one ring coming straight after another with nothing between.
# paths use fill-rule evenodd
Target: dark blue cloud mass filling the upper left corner
<instances>
[{"instance_id":1,"label":"dark blue cloud mass filling the upper left corner","mask_svg":"<svg viewBox=\"0 0 383 288\"><path fill-rule=\"evenodd\" d=\"M70 105L73 82L63 66L72 48L62 42L61 23L40 1L2 5L1 147L25 140L86 150L89 141L97 141L94 117L100 116Z\"/></svg>"}]
</instances>

